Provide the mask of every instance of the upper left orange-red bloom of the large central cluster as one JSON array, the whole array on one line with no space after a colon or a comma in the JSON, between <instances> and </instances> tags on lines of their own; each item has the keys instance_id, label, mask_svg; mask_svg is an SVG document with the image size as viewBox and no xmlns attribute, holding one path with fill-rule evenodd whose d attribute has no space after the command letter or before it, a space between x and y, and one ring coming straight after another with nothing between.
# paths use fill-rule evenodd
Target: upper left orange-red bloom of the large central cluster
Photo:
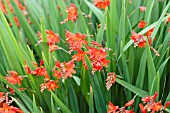
<instances>
[{"instance_id":1,"label":"upper left orange-red bloom of the large central cluster","mask_svg":"<svg viewBox=\"0 0 170 113\"><path fill-rule=\"evenodd\" d=\"M73 34L66 30L66 41L69 43L71 50L81 49L83 47L83 44L87 45L87 41L85 40L85 38L85 34Z\"/></svg>"}]
</instances>

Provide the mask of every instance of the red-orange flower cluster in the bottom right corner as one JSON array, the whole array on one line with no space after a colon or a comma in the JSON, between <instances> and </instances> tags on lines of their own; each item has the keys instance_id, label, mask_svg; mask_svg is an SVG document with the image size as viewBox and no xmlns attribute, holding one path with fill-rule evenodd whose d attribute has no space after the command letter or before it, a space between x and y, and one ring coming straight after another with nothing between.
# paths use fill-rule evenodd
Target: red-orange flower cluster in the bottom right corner
<instances>
[{"instance_id":1,"label":"red-orange flower cluster in the bottom right corner","mask_svg":"<svg viewBox=\"0 0 170 113\"><path fill-rule=\"evenodd\" d=\"M170 105L170 102L167 102L165 106L163 106L161 104L161 100L155 102L157 96L158 96L158 92L155 92L153 96L146 96L142 98L142 102L144 105L139 104L142 113L147 113L147 112L155 113L158 111L163 112L163 110L165 110Z\"/></svg>"}]
</instances>

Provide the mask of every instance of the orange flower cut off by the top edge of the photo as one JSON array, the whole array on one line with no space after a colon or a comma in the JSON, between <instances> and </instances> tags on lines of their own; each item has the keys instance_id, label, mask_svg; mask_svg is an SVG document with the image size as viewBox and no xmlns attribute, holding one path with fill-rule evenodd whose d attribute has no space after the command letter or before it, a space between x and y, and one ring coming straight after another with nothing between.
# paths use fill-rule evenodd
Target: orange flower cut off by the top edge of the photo
<instances>
[{"instance_id":1,"label":"orange flower cut off by the top edge of the photo","mask_svg":"<svg viewBox=\"0 0 170 113\"><path fill-rule=\"evenodd\" d=\"M105 10L110 5L110 0L94 0L94 5Z\"/></svg>"}]
</instances>

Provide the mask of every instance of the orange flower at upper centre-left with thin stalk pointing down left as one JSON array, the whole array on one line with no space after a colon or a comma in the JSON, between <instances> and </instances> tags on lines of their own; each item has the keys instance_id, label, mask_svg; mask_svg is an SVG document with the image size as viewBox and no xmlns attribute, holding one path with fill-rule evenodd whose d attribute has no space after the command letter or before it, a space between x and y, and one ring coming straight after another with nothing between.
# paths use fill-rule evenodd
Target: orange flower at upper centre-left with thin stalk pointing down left
<instances>
[{"instance_id":1,"label":"orange flower at upper centre-left with thin stalk pointing down left","mask_svg":"<svg viewBox=\"0 0 170 113\"><path fill-rule=\"evenodd\" d=\"M78 18L78 12L75 4L71 4L70 7L67 7L66 12L68 13L68 17L63 22L61 22L61 24L69 20L74 22Z\"/></svg>"}]
</instances>

